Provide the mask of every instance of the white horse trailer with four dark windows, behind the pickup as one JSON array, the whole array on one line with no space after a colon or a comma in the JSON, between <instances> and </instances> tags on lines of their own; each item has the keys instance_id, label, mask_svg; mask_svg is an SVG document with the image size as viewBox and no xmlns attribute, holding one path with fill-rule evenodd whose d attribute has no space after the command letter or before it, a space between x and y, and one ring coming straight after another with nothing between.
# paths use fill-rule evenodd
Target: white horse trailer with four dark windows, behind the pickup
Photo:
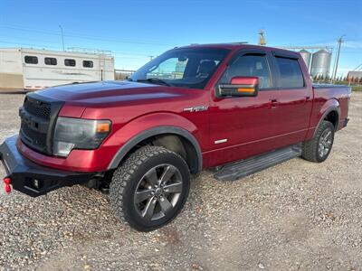
<instances>
[{"instance_id":1,"label":"white horse trailer with four dark windows, behind the pickup","mask_svg":"<svg viewBox=\"0 0 362 271\"><path fill-rule=\"evenodd\" d=\"M43 89L114 79L110 53L0 48L0 89Z\"/></svg>"}]
</instances>

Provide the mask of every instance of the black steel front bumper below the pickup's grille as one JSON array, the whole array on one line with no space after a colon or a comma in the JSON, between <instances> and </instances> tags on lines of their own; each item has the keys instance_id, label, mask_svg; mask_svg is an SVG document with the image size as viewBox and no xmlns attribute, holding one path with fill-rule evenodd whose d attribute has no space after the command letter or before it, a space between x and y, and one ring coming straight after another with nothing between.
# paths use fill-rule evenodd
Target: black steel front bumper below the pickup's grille
<instances>
[{"instance_id":1,"label":"black steel front bumper below the pickup's grille","mask_svg":"<svg viewBox=\"0 0 362 271\"><path fill-rule=\"evenodd\" d=\"M63 186L88 182L95 175L95 173L64 172L34 164L17 150L17 137L18 135L9 137L0 145L0 159L16 191L37 197Z\"/></svg>"}]
</instances>

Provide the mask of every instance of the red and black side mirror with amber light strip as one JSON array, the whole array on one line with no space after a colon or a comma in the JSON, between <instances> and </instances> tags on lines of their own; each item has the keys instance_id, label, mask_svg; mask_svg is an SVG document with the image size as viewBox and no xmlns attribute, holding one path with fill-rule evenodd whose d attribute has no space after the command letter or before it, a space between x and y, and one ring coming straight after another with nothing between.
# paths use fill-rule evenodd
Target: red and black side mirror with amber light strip
<instances>
[{"instance_id":1,"label":"red and black side mirror with amber light strip","mask_svg":"<svg viewBox=\"0 0 362 271\"><path fill-rule=\"evenodd\" d=\"M219 85L221 97L255 97L258 95L258 77L233 77L230 84Z\"/></svg>"}]
</instances>

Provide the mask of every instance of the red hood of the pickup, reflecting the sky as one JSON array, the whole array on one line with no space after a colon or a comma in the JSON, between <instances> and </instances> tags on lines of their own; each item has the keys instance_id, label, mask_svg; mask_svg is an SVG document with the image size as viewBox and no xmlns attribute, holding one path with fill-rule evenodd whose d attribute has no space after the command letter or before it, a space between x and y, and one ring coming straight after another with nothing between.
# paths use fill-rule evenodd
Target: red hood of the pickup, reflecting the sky
<instances>
[{"instance_id":1,"label":"red hood of the pickup, reflecting the sky","mask_svg":"<svg viewBox=\"0 0 362 271\"><path fill-rule=\"evenodd\" d=\"M188 91L187 91L188 90ZM142 102L150 99L177 98L199 92L129 81L100 81L52 87L36 93L47 98L82 106L112 106L124 102Z\"/></svg>"}]
</instances>

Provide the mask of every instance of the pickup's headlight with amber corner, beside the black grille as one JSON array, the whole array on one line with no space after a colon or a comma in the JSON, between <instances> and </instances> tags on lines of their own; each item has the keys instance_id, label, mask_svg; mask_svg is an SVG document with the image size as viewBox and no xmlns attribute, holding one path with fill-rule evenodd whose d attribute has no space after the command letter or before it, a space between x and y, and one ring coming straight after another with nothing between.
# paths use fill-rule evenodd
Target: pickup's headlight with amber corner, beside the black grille
<instances>
[{"instance_id":1,"label":"pickup's headlight with amber corner, beside the black grille","mask_svg":"<svg viewBox=\"0 0 362 271\"><path fill-rule=\"evenodd\" d=\"M58 117L53 154L67 156L72 149L93 150L110 134L110 120Z\"/></svg>"}]
</instances>

